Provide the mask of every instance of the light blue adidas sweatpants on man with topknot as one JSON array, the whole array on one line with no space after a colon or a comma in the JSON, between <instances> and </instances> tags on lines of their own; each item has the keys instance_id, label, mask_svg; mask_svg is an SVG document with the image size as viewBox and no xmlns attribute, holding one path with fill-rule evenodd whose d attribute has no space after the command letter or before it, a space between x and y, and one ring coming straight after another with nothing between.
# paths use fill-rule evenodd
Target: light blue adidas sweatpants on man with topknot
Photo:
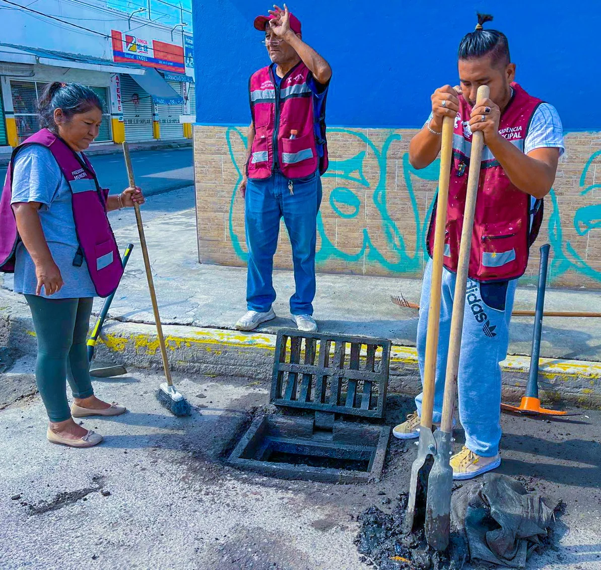
<instances>
[{"instance_id":1,"label":"light blue adidas sweatpants on man with topknot","mask_svg":"<svg viewBox=\"0 0 601 570\"><path fill-rule=\"evenodd\" d=\"M426 333L430 305L432 259L427 264L419 303L417 352L419 374L424 378ZM441 421L447 353L451 334L451 312L456 274L442 270L441 327L436 359L433 422ZM517 279L500 283L478 283L468 278L463 312L463 334L457 393L459 418L465 429L466 447L483 457L499 452L501 440L501 367L509 345L509 321ZM423 394L415 398L421 414Z\"/></svg>"}]
</instances>

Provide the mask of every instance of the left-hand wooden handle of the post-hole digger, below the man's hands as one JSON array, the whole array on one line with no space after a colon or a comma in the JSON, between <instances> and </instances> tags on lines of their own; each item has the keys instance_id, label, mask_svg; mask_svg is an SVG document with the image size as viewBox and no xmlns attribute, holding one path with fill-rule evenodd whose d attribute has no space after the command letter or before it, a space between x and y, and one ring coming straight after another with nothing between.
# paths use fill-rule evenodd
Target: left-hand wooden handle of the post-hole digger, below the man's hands
<instances>
[{"instance_id":1,"label":"left-hand wooden handle of the post-hole digger, below the man's hands","mask_svg":"<svg viewBox=\"0 0 601 570\"><path fill-rule=\"evenodd\" d=\"M424 362L424 394L421 402L421 425L428 429L432 429L436 356L438 354L438 333L441 324L442 262L445 246L445 228L447 226L451 158L453 156L453 124L453 117L445 117L442 121L441 169L438 178L436 226L432 252L432 279L428 309L428 330L426 333L426 360Z\"/></svg>"}]
</instances>

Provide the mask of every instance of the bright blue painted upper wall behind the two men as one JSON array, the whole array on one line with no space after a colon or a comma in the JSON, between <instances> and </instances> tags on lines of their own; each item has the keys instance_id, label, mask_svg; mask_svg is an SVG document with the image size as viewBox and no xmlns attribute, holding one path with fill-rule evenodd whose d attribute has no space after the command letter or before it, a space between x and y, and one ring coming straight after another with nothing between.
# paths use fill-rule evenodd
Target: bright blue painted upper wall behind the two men
<instances>
[{"instance_id":1,"label":"bright blue painted upper wall behind the two men","mask_svg":"<svg viewBox=\"0 0 601 570\"><path fill-rule=\"evenodd\" d=\"M248 77L269 63L252 21L269 2L192 4L197 121L247 124ZM481 11L495 16L489 28L507 34L517 81L557 107L564 129L601 130L599 2L291 0L288 7L334 70L329 126L422 126L432 91L457 83L457 46Z\"/></svg>"}]
</instances>

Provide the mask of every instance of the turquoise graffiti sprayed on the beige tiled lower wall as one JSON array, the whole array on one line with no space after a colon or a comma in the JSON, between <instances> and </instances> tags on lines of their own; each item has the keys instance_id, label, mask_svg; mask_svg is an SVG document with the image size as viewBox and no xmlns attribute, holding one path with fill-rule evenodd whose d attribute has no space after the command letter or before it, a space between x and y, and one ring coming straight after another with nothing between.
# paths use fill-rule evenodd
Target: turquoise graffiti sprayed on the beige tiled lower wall
<instances>
[{"instance_id":1,"label":"turquoise graffiti sprayed on the beige tiled lower wall","mask_svg":"<svg viewBox=\"0 0 601 570\"><path fill-rule=\"evenodd\" d=\"M317 264L323 265L332 259L356 262L364 258L365 262L378 264L386 271L419 273L424 256L427 255L424 243L435 195L433 192L430 194L426 208L423 202L420 207L415 186L426 181L432 187L432 183L438 180L438 160L428 168L416 170L409 164L409 154L406 151L392 158L391 147L395 142L401 141L402 137L394 131L383 139L380 136L379 145L361 131L333 128L328 129L328 133L336 136L337 141L343 141L345 148L354 150L350 151L347 158L331 158L328 172L323 175L324 181L333 180L335 186L322 202L317 219ZM242 180L242 150L246 149L246 136L236 127L229 127L225 136L230 159L238 175L232 189L228 231L236 255L246 261L244 235L237 231L234 223L235 211L243 208L242 200L237 199L237 193ZM601 270L587 263L570 239L564 237L569 232L563 231L566 224L572 224L579 236L601 228L601 184L590 183L596 165L601 168L601 151L594 153L582 170L580 195L587 197L587 204L576 209L575 213L562 216L560 199L554 190L546 201L547 211L550 212L549 242L554 250L554 279L573 270L601 281ZM394 169L397 191L394 202L391 202L391 192L387 192L387 176L391 177L391 170ZM398 221L400 216L395 216L391 211L397 201L408 205L402 216L402 226ZM370 223L363 222L367 218ZM375 224L374 218L377 222ZM332 219L355 220L353 231L359 234L354 236L355 239L337 240L335 226L328 223Z\"/></svg>"}]
</instances>

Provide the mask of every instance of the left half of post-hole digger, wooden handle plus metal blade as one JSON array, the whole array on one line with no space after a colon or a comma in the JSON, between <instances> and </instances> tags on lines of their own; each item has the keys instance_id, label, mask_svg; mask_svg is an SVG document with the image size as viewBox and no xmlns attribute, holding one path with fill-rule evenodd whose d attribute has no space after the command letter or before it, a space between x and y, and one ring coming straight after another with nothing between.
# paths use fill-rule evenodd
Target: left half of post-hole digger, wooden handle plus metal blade
<instances>
[{"instance_id":1,"label":"left half of post-hole digger, wooden handle plus metal blade","mask_svg":"<svg viewBox=\"0 0 601 570\"><path fill-rule=\"evenodd\" d=\"M445 229L447 226L451 156L453 154L453 123L453 117L445 117L442 122L441 169L438 179L438 199L436 201L436 227L432 252L432 286L430 287L426 360L424 362L424 395L421 405L419 441L416 443L418 446L417 457L411 467L409 502L407 503L407 514L404 522L406 533L411 532L413 529L413 520L416 512L424 510L425 495L421 487L427 481L428 470L430 465L432 465L432 461L427 461L428 455L432 455L435 452L436 446L432 434L432 410L434 407L434 386L436 381L438 331L441 321L442 261L444 256Z\"/></svg>"}]
</instances>

